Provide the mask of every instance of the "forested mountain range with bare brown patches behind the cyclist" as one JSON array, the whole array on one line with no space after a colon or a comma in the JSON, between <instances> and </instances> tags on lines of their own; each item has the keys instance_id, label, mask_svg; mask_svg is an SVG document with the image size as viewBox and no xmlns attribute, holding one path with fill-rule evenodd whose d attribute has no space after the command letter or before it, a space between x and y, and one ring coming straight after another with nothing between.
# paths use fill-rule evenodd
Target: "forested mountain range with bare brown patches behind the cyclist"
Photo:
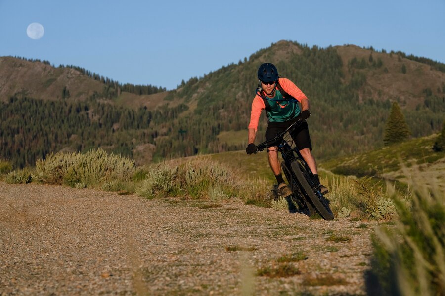
<instances>
[{"instance_id":1,"label":"forested mountain range with bare brown patches behind the cyclist","mask_svg":"<svg viewBox=\"0 0 445 296\"><path fill-rule=\"evenodd\" d=\"M76 68L1 57L1 109L9 111L0 112L5 147L0 156L23 166L52 151L103 147L123 152L141 164L164 157L244 149L258 83L256 72L266 61L275 63L280 74L309 97L313 153L319 160L382 147L392 101L401 105L413 137L438 132L442 126L444 64L400 52L353 45L309 48L280 41L238 64L191 78L176 90L146 95L139 95L134 87L122 91L124 86ZM36 76L40 78L33 80ZM9 100L10 96L15 99ZM75 126L51 121L52 116L45 115L44 109L52 109L47 103L31 104L43 105L40 111L11 106L24 97L62 104L57 110L67 117L77 112L85 120ZM84 102L80 110L76 107L79 101ZM263 140L266 127L263 116L258 141ZM20 121L21 117L29 119ZM134 121L139 123L130 123ZM55 126L57 137L53 136ZM36 128L40 129L38 136L30 134L36 134ZM85 129L88 134L81 132ZM34 145L27 146L26 139Z\"/></svg>"}]
</instances>

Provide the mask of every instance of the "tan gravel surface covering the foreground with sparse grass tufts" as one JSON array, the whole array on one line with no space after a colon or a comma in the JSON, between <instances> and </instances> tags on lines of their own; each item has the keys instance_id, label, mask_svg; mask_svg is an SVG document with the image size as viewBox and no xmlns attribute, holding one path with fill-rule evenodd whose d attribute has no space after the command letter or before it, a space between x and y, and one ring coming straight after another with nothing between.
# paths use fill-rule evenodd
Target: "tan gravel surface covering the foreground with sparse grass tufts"
<instances>
[{"instance_id":1,"label":"tan gravel surface covering the foreground with sparse grass tufts","mask_svg":"<svg viewBox=\"0 0 445 296\"><path fill-rule=\"evenodd\" d=\"M365 295L371 231L239 201L0 182L0 295Z\"/></svg>"}]
</instances>

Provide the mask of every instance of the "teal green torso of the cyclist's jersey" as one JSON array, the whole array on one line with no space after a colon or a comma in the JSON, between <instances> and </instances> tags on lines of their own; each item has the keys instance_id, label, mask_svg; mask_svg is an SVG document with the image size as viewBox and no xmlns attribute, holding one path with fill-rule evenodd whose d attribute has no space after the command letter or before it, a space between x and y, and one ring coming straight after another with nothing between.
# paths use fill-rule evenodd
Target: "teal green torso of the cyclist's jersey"
<instances>
[{"instance_id":1,"label":"teal green torso of the cyclist's jersey","mask_svg":"<svg viewBox=\"0 0 445 296\"><path fill-rule=\"evenodd\" d=\"M270 99L267 100L271 109L270 111L267 111L269 122L287 121L300 114L300 107L297 102L280 101L283 100L283 96L278 89L275 90L275 97L273 97L273 99L269 97L266 98ZM278 100L278 102L276 100Z\"/></svg>"}]
</instances>

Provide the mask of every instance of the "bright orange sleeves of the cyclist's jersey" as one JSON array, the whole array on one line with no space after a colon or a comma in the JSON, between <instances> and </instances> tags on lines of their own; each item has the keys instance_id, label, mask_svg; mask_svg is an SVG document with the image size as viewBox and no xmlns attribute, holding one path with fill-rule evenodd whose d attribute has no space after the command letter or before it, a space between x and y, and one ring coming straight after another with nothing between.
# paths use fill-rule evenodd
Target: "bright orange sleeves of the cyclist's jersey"
<instances>
[{"instance_id":1,"label":"bright orange sleeves of the cyclist's jersey","mask_svg":"<svg viewBox=\"0 0 445 296\"><path fill-rule=\"evenodd\" d=\"M278 82L285 92L294 97L298 102L301 102L303 99L307 99L306 95L289 79L287 78L279 78ZM277 90L275 90L276 96ZM271 98L273 99L273 98ZM280 102L277 102L281 108L286 108L289 102L281 105ZM296 104L296 103L293 103ZM265 109L264 101L258 94L255 96L252 102L252 111L250 112L250 123L248 128L253 128L258 130L258 122L260 121L261 111ZM296 114L298 115L298 114Z\"/></svg>"}]
</instances>

